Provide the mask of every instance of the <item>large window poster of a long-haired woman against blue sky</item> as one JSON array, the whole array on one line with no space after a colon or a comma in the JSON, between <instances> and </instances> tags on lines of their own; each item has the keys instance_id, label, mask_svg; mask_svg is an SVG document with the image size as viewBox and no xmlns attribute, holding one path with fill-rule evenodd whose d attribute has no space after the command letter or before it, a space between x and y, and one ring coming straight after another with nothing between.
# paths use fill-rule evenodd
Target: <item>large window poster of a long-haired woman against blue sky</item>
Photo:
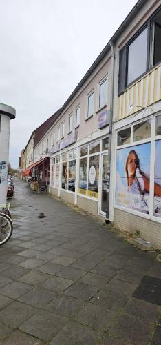
<instances>
[{"instance_id":1,"label":"large window poster of a long-haired woman against blue sky","mask_svg":"<svg viewBox=\"0 0 161 345\"><path fill-rule=\"evenodd\" d=\"M150 143L117 150L116 205L149 213L150 155Z\"/></svg>"}]
</instances>

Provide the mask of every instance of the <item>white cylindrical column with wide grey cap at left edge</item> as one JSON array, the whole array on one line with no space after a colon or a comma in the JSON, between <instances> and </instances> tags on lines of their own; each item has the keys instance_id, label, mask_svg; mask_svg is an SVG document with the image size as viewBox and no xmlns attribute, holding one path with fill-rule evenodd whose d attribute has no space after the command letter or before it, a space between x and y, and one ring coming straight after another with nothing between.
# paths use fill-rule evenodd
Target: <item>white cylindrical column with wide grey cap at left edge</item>
<instances>
[{"instance_id":1,"label":"white cylindrical column with wide grey cap at left edge","mask_svg":"<svg viewBox=\"0 0 161 345\"><path fill-rule=\"evenodd\" d=\"M0 103L0 205L6 204L10 120L15 116L14 108Z\"/></svg>"}]
</instances>

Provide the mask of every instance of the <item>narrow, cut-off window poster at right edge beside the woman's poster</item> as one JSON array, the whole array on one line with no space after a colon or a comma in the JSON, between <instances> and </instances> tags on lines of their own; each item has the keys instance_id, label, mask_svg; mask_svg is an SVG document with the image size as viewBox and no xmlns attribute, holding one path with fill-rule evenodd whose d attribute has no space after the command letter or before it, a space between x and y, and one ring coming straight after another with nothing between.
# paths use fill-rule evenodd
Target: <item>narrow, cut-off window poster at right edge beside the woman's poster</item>
<instances>
[{"instance_id":1,"label":"narrow, cut-off window poster at right edge beside the woman's poster","mask_svg":"<svg viewBox=\"0 0 161 345\"><path fill-rule=\"evenodd\" d=\"M161 218L161 140L155 141L154 215Z\"/></svg>"}]
</instances>

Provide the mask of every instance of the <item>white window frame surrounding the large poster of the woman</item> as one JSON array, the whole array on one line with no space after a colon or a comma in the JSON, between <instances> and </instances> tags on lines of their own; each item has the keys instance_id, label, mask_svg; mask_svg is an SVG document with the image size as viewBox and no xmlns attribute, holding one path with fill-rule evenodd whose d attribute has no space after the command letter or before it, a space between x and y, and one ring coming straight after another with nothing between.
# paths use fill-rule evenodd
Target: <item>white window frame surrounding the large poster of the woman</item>
<instances>
[{"instance_id":1,"label":"white window frame surrounding the large poster of the woman","mask_svg":"<svg viewBox=\"0 0 161 345\"><path fill-rule=\"evenodd\" d=\"M161 139L161 135L155 135L155 119L157 116L161 115L161 112L157 112L155 114L152 114L147 117L143 117L142 119L138 119L138 121L133 122L133 119L126 125L122 126L120 128L117 128L115 130L116 137L115 137L115 166L116 166L116 152L118 149L121 148L128 148L131 146L137 146L140 144L151 144L151 157L150 157L150 193L149 193L149 214L142 213L138 210L132 210L131 208L126 208L124 206L119 206L116 204L116 169L114 169L114 208L117 208L119 210L123 210L124 212L131 213L133 215L138 215L142 218L146 218L152 221L156 221L158 223L161 223L161 218L156 217L154 215L154 208L153 208L153 200L154 200L154 170L155 170L155 141ZM142 139L140 141L133 141L132 135L133 135L133 126L140 124L141 122L147 121L148 119L151 119L151 137L147 139ZM129 144L120 145L117 146L117 133L120 132L120 130L124 130L126 128L131 127L131 141Z\"/></svg>"}]
</instances>

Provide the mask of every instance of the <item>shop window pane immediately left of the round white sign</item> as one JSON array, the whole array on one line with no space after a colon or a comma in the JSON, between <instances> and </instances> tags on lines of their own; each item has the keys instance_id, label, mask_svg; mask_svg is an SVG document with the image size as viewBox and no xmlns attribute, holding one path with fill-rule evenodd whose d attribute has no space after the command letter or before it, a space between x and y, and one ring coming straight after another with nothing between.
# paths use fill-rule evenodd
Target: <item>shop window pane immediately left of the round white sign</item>
<instances>
[{"instance_id":1,"label":"shop window pane immediately left of the round white sign","mask_svg":"<svg viewBox=\"0 0 161 345\"><path fill-rule=\"evenodd\" d=\"M85 195L87 193L87 157L80 159L78 193Z\"/></svg>"}]
</instances>

